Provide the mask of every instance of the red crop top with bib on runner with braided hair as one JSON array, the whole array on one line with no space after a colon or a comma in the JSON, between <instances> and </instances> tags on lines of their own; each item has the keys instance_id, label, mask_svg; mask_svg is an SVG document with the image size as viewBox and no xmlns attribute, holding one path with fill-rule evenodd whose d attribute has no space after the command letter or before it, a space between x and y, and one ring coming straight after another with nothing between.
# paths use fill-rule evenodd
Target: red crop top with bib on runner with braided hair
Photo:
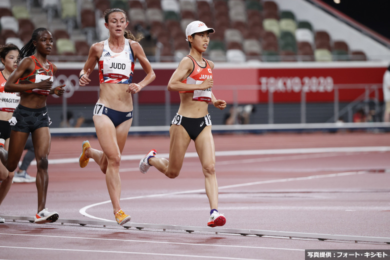
<instances>
[{"instance_id":1,"label":"red crop top with bib on runner with braided hair","mask_svg":"<svg viewBox=\"0 0 390 260\"><path fill-rule=\"evenodd\" d=\"M34 55L30 56L32 60L35 63L35 68L32 70L32 72L25 76L21 77L19 79L19 84L30 84L30 83L38 83L40 81L43 81L47 78L50 78L50 81L53 82L53 66L51 63L47 60L49 63L49 69L45 69L39 61L36 59ZM36 94L41 94L41 95L48 95L50 90L45 90L45 89L39 89L39 88L34 88L32 90L26 90L24 92L27 93L36 93Z\"/></svg>"}]
</instances>

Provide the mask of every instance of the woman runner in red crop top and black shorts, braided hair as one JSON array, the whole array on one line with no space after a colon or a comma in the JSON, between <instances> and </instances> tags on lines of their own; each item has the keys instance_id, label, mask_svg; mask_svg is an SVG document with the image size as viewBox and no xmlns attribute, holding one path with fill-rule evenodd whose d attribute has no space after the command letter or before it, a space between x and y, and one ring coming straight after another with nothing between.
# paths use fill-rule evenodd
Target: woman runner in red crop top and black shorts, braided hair
<instances>
[{"instance_id":1,"label":"woman runner in red crop top and black shorts, braided hair","mask_svg":"<svg viewBox=\"0 0 390 260\"><path fill-rule=\"evenodd\" d=\"M11 118L8 151L4 149L4 139L0 139L0 159L9 171L14 171L31 133L37 168L35 183L38 207L35 223L54 222L58 219L57 212L49 212L45 208L48 185L47 157L51 141L48 127L51 121L47 114L46 99L49 94L61 96L65 86L52 88L57 67L46 58L52 46L51 33L46 28L35 29L31 39L21 48L17 57L18 66L4 85L7 92L20 92L20 102Z\"/></svg>"}]
</instances>

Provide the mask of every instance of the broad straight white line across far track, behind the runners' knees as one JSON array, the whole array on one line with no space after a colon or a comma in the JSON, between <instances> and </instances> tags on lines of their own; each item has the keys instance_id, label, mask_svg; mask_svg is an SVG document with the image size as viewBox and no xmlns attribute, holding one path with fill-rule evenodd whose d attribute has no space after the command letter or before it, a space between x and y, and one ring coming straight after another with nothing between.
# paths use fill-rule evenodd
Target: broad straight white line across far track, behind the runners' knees
<instances>
[{"instance_id":1,"label":"broad straight white line across far track, behind the runners' knees","mask_svg":"<svg viewBox=\"0 0 390 260\"><path fill-rule=\"evenodd\" d=\"M244 156L244 155L269 155L269 154L297 154L297 153L327 153L327 152L385 152L390 151L390 146L357 146L357 147L322 147L322 148L287 148L287 149L255 149L255 150L230 150L215 151L215 156ZM168 157L169 153L159 153L161 157ZM145 154L122 155L122 160L140 160ZM196 152L185 153L185 158L197 157ZM76 163L78 157L49 159L50 164ZM36 164L32 161L31 164Z\"/></svg>"}]
</instances>

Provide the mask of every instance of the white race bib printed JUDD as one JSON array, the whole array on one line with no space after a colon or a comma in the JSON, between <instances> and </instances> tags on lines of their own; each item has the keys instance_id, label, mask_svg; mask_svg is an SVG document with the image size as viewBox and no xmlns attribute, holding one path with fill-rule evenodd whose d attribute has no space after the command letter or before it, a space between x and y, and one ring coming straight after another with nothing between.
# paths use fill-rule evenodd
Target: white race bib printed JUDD
<instances>
[{"instance_id":1,"label":"white race bib printed JUDD","mask_svg":"<svg viewBox=\"0 0 390 260\"><path fill-rule=\"evenodd\" d=\"M111 78L127 79L131 73L131 61L124 58L104 57L103 75Z\"/></svg>"}]
</instances>

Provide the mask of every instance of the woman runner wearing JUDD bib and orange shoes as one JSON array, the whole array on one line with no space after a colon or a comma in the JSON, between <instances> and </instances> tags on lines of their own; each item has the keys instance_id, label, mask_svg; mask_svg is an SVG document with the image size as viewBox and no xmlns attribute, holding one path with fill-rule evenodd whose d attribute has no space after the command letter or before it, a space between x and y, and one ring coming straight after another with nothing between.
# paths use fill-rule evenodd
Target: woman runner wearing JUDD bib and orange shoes
<instances>
[{"instance_id":1,"label":"woman runner wearing JUDD bib and orange shoes","mask_svg":"<svg viewBox=\"0 0 390 260\"><path fill-rule=\"evenodd\" d=\"M92 44L84 68L80 71L79 84L90 82L89 74L99 65L99 99L93 109L93 122L102 151L90 147L88 140L82 143L80 167L85 167L89 158L100 166L111 199L113 213L118 224L123 225L131 217L120 207L120 157L132 122L131 93L139 92L154 80L155 74L138 43L140 38L125 30L126 13L118 8L107 9L104 14L108 39ZM132 83L135 60L138 59L146 76Z\"/></svg>"}]
</instances>

